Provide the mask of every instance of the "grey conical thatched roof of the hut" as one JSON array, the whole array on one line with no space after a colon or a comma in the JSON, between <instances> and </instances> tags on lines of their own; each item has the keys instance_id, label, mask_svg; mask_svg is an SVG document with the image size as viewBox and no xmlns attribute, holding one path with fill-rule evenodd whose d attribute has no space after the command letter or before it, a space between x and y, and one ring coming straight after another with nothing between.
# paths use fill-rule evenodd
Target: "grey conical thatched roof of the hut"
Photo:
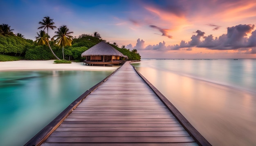
<instances>
[{"instance_id":1,"label":"grey conical thatched roof of the hut","mask_svg":"<svg viewBox=\"0 0 256 146\"><path fill-rule=\"evenodd\" d=\"M121 52L117 51L114 47L106 42L100 42L92 46L90 49L84 51L81 56L98 56L98 55L106 55L106 56L121 56L124 57L125 55ZM127 57L127 56L126 56Z\"/></svg>"}]
</instances>

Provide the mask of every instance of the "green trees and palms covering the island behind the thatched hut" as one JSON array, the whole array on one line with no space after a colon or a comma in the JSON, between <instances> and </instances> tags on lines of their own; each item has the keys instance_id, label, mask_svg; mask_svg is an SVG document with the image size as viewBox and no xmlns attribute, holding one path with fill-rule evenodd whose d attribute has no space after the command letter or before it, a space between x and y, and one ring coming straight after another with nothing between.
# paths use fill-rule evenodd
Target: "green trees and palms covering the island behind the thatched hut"
<instances>
[{"instance_id":1,"label":"green trees and palms covering the island behind the thatched hut","mask_svg":"<svg viewBox=\"0 0 256 146\"><path fill-rule=\"evenodd\" d=\"M36 33L36 41L26 39L21 33L14 34L13 29L8 24L0 24L0 61L57 59L60 61L56 61L56 63L67 63L64 60L81 62L85 60L85 58L81 58L81 53L101 41L107 42L101 38L97 31L92 34L81 34L73 38L70 35L73 32L65 25L59 27L55 31L56 35L50 38L48 29L53 30L56 28L53 19L44 17L39 24L42 26L38 27L38 29L42 30ZM116 42L110 45L127 55L129 60L141 59L136 49L130 51L125 46L119 48ZM59 58L63 58L63 60Z\"/></svg>"}]
</instances>

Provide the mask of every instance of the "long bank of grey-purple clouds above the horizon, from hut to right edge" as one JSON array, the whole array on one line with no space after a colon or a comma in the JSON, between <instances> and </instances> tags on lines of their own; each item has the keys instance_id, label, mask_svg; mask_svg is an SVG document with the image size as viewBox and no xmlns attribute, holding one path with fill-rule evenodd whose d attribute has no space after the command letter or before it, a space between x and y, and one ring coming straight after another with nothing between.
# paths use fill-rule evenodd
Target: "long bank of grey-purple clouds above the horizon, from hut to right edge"
<instances>
[{"instance_id":1,"label":"long bank of grey-purple clouds above the horizon, from hut to right edge","mask_svg":"<svg viewBox=\"0 0 256 146\"><path fill-rule=\"evenodd\" d=\"M228 27L227 34L222 34L215 38L213 35L204 36L205 33L203 31L197 30L195 31L197 34L192 35L189 42L182 40L180 44L166 46L166 42L163 41L145 47L144 40L138 39L134 47L132 44L128 44L126 48L154 51L181 50L184 48L182 50L191 51L193 47L197 47L210 50L237 50L241 53L255 54L256 30L253 30L254 25L252 24L239 24L234 27Z\"/></svg>"}]
</instances>

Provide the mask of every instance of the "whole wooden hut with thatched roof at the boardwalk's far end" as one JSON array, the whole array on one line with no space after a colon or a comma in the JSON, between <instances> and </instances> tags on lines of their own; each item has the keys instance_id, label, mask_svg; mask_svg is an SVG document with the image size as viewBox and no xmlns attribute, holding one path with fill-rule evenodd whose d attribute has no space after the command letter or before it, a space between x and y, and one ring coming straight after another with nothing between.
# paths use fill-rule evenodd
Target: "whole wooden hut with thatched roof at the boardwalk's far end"
<instances>
[{"instance_id":1,"label":"whole wooden hut with thatched roof at the boardwalk's far end","mask_svg":"<svg viewBox=\"0 0 256 146\"><path fill-rule=\"evenodd\" d=\"M103 64L104 66L105 64L124 64L124 60L128 58L106 42L100 42L92 46L84 51L81 56L86 58L83 62L85 65Z\"/></svg>"}]
</instances>

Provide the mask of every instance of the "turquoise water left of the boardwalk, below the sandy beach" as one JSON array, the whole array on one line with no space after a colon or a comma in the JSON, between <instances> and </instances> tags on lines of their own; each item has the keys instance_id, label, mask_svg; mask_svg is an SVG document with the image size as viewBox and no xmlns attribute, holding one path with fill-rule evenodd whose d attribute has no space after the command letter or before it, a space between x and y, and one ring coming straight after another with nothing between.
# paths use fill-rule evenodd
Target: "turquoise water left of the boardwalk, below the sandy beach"
<instances>
[{"instance_id":1,"label":"turquoise water left of the boardwalk, below the sandy beach","mask_svg":"<svg viewBox=\"0 0 256 146\"><path fill-rule=\"evenodd\" d=\"M112 71L0 72L0 145L22 146Z\"/></svg>"}]
</instances>

